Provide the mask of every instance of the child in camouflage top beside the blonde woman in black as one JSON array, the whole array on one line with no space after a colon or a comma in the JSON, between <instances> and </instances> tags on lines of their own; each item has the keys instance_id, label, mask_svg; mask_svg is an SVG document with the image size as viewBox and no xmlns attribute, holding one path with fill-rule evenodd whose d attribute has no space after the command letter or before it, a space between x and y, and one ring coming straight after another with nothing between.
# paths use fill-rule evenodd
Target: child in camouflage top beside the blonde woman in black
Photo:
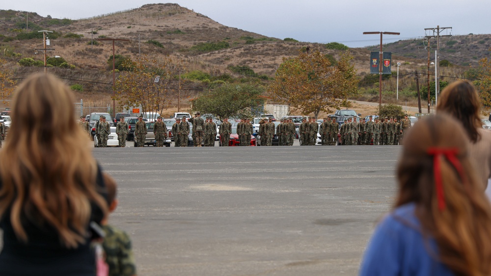
<instances>
[{"instance_id":1,"label":"child in camouflage top beside the blonde woman in black","mask_svg":"<svg viewBox=\"0 0 491 276\"><path fill-rule=\"evenodd\" d=\"M117 185L114 179L103 174L108 193L109 213L114 212L118 201L116 199ZM106 253L106 263L109 266L108 276L134 276L136 275L135 258L133 256L130 236L123 230L109 225L109 217L102 220L101 226L106 234L102 248Z\"/></svg>"}]
</instances>

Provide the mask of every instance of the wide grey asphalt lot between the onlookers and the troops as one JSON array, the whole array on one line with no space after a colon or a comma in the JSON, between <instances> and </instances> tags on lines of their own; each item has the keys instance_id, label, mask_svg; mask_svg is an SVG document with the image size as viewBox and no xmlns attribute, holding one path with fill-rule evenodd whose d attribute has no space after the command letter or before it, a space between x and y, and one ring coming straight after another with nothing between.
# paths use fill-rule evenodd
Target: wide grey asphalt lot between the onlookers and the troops
<instances>
[{"instance_id":1,"label":"wide grey asphalt lot between the onlookers and the troops","mask_svg":"<svg viewBox=\"0 0 491 276\"><path fill-rule=\"evenodd\" d=\"M298 143L298 140L296 140ZM138 275L357 275L400 146L94 149Z\"/></svg>"}]
</instances>

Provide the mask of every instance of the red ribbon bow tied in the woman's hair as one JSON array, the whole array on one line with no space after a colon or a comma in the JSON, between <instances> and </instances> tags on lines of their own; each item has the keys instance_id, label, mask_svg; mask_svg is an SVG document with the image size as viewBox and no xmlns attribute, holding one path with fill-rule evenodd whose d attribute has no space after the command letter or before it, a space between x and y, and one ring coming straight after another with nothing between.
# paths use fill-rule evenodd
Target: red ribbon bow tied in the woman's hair
<instances>
[{"instance_id":1,"label":"red ribbon bow tied in the woman's hair","mask_svg":"<svg viewBox=\"0 0 491 276\"><path fill-rule=\"evenodd\" d=\"M462 164L457 158L459 149L457 148L429 148L428 154L433 155L433 174L435 175L435 185L436 185L436 198L438 200L438 208L440 210L445 209L445 197L443 195L443 183L441 182L441 169L440 162L438 161L439 156L444 156L447 160L454 166L461 180L464 181L464 169Z\"/></svg>"}]
</instances>

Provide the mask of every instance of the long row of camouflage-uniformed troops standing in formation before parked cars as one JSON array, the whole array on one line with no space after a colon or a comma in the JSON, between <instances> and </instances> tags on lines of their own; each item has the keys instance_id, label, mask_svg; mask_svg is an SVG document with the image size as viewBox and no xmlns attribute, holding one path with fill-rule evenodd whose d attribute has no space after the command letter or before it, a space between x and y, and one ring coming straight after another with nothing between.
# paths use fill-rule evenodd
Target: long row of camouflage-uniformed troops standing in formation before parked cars
<instances>
[{"instance_id":1,"label":"long row of camouflage-uniformed troops standing in formation before parked cars","mask_svg":"<svg viewBox=\"0 0 491 276\"><path fill-rule=\"evenodd\" d=\"M157 147L164 147L164 141L167 138L167 127L162 121L162 117L157 118L154 124L154 134ZM176 118L176 123L172 125L172 133L174 133L174 146L187 147L188 136L190 133L190 123L192 124L192 141L194 147L214 147L215 137L217 136L217 125L211 117L205 120L201 118L201 114L196 112L195 116L189 121L186 118ZM85 117L80 118L79 125L90 135L90 125L85 121ZM106 117L101 116L99 121L94 125L99 147L107 147L108 136L110 133L109 122L106 122ZM312 146L316 144L317 134L321 135L321 145L398 145L403 139L405 133L411 127L411 122L406 115L401 122L397 118L375 118L370 116L368 121L361 119L357 122L355 118L347 118L342 125L336 122L336 117L327 116L319 125L315 117L303 118L299 126L299 139L301 146ZM4 129L4 127L3 127ZM119 147L126 147L126 139L128 136L128 123L124 121L124 117L120 118L120 122L116 125L116 134L118 135ZM0 133L2 124L0 124ZM218 134L220 134L221 146L229 146L230 134L232 133L232 124L228 122L228 118L224 118L219 126ZM273 119L263 118L259 121L258 139L261 146L272 146L273 137L276 133L279 146L293 146L293 141L296 137L297 130L292 119L284 119L280 124L274 125ZM145 145L145 135L147 134L147 126L143 121L143 116L138 118L135 125L135 141L137 147ZM250 123L250 119L243 118L237 124L237 134L239 135L240 146L250 146L250 136L254 134L254 127ZM4 134L1 137L4 137ZM1 140L0 140L1 141ZM0 142L1 147L1 142Z\"/></svg>"}]
</instances>

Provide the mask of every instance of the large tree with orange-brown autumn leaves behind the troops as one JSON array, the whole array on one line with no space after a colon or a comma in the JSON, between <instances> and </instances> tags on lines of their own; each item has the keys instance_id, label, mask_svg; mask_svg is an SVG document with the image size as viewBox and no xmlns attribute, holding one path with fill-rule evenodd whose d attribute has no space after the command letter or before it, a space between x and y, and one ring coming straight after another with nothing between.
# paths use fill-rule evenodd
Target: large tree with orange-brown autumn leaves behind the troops
<instances>
[{"instance_id":1,"label":"large tree with orange-brown autumn leaves behind the troops","mask_svg":"<svg viewBox=\"0 0 491 276\"><path fill-rule=\"evenodd\" d=\"M336 66L319 51L300 51L297 57L283 58L276 71L269 95L276 101L300 109L302 114L339 109L340 103L358 92L353 56L345 52Z\"/></svg>"}]
</instances>

